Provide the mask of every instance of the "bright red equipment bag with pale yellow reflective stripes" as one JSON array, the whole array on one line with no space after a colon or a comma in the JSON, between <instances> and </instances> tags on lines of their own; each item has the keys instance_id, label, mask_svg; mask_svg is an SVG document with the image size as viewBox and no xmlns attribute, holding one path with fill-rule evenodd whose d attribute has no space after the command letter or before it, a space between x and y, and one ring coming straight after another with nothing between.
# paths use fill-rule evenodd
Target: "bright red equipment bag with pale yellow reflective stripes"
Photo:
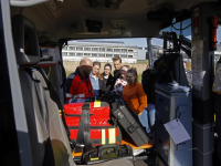
<instances>
[{"instance_id":1,"label":"bright red equipment bag with pale yellow reflective stripes","mask_svg":"<svg viewBox=\"0 0 221 166\"><path fill-rule=\"evenodd\" d=\"M76 142L78 126L84 103L69 103L64 105L64 117L70 131L70 138ZM90 134L93 146L122 143L122 133L118 127L109 124L109 104L106 102L91 102Z\"/></svg>"}]
</instances>

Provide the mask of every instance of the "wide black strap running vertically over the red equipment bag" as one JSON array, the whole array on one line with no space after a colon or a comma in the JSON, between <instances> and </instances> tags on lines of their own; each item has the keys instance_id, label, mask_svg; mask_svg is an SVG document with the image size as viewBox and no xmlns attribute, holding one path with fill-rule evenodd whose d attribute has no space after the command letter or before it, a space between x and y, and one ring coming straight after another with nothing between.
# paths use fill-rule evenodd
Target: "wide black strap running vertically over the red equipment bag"
<instances>
[{"instance_id":1,"label":"wide black strap running vertically over the red equipment bag","mask_svg":"<svg viewBox=\"0 0 221 166\"><path fill-rule=\"evenodd\" d=\"M91 133L90 133L90 103L85 102L82 106L82 115L80 120L80 127L76 138L76 147L75 152L82 152L83 147L86 152L91 152L93 148L91 142Z\"/></svg>"}]
</instances>

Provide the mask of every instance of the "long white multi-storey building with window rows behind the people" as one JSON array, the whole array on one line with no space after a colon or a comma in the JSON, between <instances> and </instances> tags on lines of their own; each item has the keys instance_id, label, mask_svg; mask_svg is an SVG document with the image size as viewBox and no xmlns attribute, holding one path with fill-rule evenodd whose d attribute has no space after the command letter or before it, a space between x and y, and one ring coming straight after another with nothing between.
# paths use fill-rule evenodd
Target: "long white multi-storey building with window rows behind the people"
<instances>
[{"instance_id":1,"label":"long white multi-storey building with window rows behind the people","mask_svg":"<svg viewBox=\"0 0 221 166\"><path fill-rule=\"evenodd\" d=\"M70 41L62 50L64 61L90 58L92 61L112 62L114 56L119 56L123 63L137 63L137 46L127 46L124 42L112 41Z\"/></svg>"}]
</instances>

